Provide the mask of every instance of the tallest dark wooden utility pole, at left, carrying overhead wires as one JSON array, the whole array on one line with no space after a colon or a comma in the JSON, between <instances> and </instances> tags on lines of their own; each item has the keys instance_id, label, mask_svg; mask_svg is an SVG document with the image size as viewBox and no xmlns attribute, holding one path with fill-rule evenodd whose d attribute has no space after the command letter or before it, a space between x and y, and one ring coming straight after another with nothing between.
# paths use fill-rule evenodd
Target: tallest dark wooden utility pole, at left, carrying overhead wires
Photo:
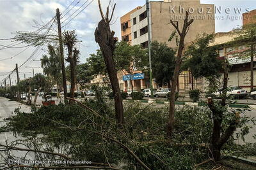
<instances>
[{"instance_id":1,"label":"tallest dark wooden utility pole, at left, carrying overhead wires","mask_svg":"<svg viewBox=\"0 0 256 170\"><path fill-rule=\"evenodd\" d=\"M62 34L61 34L61 25L60 25L60 10L57 8L56 10L56 18L58 22L58 34L59 34L59 43L60 43L60 62L61 62L61 72L62 72L62 80L63 80L63 89L64 89L64 100L65 104L67 104L67 81L66 81L66 72L65 72L65 63L64 63L64 52L63 52L63 42L62 42Z\"/></svg>"}]
</instances>

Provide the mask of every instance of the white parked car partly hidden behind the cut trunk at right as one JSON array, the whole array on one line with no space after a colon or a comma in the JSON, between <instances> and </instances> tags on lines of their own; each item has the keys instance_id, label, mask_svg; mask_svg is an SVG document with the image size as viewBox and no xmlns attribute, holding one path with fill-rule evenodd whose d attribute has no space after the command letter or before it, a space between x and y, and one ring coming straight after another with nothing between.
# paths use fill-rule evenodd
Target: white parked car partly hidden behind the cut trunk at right
<instances>
[{"instance_id":1,"label":"white parked car partly hidden behind the cut trunk at right","mask_svg":"<svg viewBox=\"0 0 256 170\"><path fill-rule=\"evenodd\" d=\"M241 87L237 87L237 86L232 86L232 87L228 87L228 91L227 91L227 97L235 97L237 99L240 98L244 98L248 95L248 92L244 89L242 89ZM214 95L216 97L220 97L221 95L221 90L218 90L218 92L215 92Z\"/></svg>"}]
</instances>

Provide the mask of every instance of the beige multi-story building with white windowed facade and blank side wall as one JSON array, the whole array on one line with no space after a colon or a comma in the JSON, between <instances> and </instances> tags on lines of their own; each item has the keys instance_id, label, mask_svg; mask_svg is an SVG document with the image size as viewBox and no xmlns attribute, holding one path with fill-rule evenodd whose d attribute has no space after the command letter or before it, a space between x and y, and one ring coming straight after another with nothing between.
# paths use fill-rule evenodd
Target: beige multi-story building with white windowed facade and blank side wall
<instances>
[{"instance_id":1,"label":"beige multi-story building with white windowed facade and blank side wall","mask_svg":"<svg viewBox=\"0 0 256 170\"><path fill-rule=\"evenodd\" d=\"M149 8L149 16L147 16L146 5L144 5L136 8L136 10L130 11L122 17L122 28L125 25L124 18L128 21L128 28L131 22L131 30L129 29L127 31L127 34L131 34L131 39L129 39L129 36L127 36L125 32L122 32L122 40L130 42L131 45L141 45L147 48L147 33L148 30L150 30L151 41L159 41L160 43L166 43L172 48L176 48L177 45L175 41L168 41L172 32L175 31L173 25L170 24L170 20L177 22L179 28L182 29L186 11L189 11L189 18L193 18L194 22L189 27L185 43L194 41L198 34L212 34L215 32L213 4L201 4L200 0L164 0L150 1ZM149 17L149 23L147 17ZM128 39L125 37L128 37ZM189 74L181 76L180 82L184 81L184 84L186 84L185 79L188 79L188 76ZM125 81L125 75L123 80ZM137 90L149 87L148 76L141 76L140 80L132 80L132 83ZM124 88L129 89L129 83L124 82ZM154 88L157 88L156 85L154 85ZM186 89L186 87L184 86L183 89ZM180 90L182 90L182 87L180 87Z\"/></svg>"}]
</instances>

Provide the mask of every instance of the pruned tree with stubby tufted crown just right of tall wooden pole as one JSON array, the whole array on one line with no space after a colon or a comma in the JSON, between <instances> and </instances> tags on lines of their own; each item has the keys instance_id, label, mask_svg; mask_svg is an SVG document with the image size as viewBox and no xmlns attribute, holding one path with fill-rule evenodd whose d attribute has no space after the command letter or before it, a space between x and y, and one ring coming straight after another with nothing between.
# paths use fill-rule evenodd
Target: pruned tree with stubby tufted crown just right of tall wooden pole
<instances>
[{"instance_id":1,"label":"pruned tree with stubby tufted crown just right of tall wooden pole","mask_svg":"<svg viewBox=\"0 0 256 170\"><path fill-rule=\"evenodd\" d=\"M74 98L75 96L75 90L76 90L76 60L75 57L77 57L79 51L75 51L73 53L74 45L77 43L76 33L75 31L64 31L63 32L63 43L67 46L68 50L68 58L67 62L70 63L70 80L71 80L71 86L70 86L70 97ZM77 53L78 52L78 53Z\"/></svg>"}]
</instances>

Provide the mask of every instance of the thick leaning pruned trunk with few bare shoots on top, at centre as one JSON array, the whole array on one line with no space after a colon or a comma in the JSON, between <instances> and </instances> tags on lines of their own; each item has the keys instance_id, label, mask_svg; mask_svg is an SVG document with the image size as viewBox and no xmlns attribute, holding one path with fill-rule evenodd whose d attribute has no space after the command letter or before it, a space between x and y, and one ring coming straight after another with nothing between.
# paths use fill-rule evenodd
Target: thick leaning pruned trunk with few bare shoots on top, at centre
<instances>
[{"instance_id":1,"label":"thick leaning pruned trunk with few bare shoots on top, at centre","mask_svg":"<svg viewBox=\"0 0 256 170\"><path fill-rule=\"evenodd\" d=\"M115 32L111 31L109 26L109 23L113 18L116 4L113 6L113 10L109 18L109 6L107 8L106 15L104 16L100 0L98 0L98 3L102 20L100 20L98 27L95 30L95 41L100 46L100 50L102 51L104 61L108 70L109 80L111 82L111 88L113 90L113 95L115 99L116 122L120 125L124 124L124 107L116 74L115 62L113 59L115 44L116 41L118 41L118 38L114 37Z\"/></svg>"}]
</instances>

